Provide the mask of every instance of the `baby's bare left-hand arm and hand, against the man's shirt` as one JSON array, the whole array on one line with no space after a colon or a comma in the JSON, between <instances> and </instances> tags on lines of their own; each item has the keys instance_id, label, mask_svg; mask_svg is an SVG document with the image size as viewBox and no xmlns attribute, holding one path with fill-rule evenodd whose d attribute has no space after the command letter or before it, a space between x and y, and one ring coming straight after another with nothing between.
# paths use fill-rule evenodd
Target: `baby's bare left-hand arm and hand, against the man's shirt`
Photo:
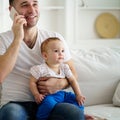
<instances>
[{"instance_id":1,"label":"baby's bare left-hand arm and hand, against the man's shirt","mask_svg":"<svg viewBox=\"0 0 120 120\"><path fill-rule=\"evenodd\" d=\"M30 90L35 98L36 103L41 103L44 99L45 95L39 93L37 89L37 80L33 76L30 78Z\"/></svg>"}]
</instances>

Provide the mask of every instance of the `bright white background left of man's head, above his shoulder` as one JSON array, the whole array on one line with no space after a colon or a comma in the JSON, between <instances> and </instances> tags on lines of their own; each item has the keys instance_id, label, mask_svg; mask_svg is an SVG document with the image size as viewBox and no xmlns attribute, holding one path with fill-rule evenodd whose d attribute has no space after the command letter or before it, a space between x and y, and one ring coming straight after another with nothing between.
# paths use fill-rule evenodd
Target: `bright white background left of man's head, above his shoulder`
<instances>
[{"instance_id":1,"label":"bright white background left of man's head, above his shoulder","mask_svg":"<svg viewBox=\"0 0 120 120\"><path fill-rule=\"evenodd\" d=\"M9 0L0 1L0 33L11 28L12 20L9 17Z\"/></svg>"}]
</instances>

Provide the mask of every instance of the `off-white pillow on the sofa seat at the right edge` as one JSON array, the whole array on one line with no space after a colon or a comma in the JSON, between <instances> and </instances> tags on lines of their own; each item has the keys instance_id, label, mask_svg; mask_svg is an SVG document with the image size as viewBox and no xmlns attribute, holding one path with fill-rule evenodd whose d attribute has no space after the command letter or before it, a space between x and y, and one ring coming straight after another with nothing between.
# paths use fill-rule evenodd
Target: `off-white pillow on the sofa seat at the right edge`
<instances>
[{"instance_id":1,"label":"off-white pillow on the sofa seat at the right edge","mask_svg":"<svg viewBox=\"0 0 120 120\"><path fill-rule=\"evenodd\" d=\"M115 106L120 106L120 82L115 90L114 96L113 96L113 104Z\"/></svg>"}]
</instances>

